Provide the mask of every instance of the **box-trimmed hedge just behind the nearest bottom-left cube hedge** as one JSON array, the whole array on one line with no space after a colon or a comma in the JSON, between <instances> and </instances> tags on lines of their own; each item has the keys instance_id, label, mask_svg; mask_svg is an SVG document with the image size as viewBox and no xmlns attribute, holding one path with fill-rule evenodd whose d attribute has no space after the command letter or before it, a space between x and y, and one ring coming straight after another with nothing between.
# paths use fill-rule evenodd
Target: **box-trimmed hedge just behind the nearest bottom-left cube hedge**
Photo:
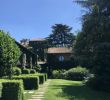
<instances>
[{"instance_id":1,"label":"box-trimmed hedge just behind the nearest bottom-left cube hedge","mask_svg":"<svg viewBox=\"0 0 110 100\"><path fill-rule=\"evenodd\" d=\"M36 90L39 87L39 78L34 75L14 76L13 79L22 79L25 90Z\"/></svg>"}]
</instances>

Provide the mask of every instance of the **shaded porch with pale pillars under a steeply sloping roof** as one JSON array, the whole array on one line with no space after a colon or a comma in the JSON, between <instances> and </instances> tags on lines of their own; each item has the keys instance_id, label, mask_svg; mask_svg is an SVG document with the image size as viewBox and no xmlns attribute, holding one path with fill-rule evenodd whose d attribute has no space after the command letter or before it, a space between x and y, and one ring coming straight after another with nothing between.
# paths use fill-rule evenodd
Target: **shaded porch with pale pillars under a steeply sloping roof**
<instances>
[{"instance_id":1,"label":"shaded porch with pale pillars under a steeply sloping roof","mask_svg":"<svg viewBox=\"0 0 110 100\"><path fill-rule=\"evenodd\" d=\"M37 54L35 54L30 49L28 49L27 47L25 47L17 41L16 44L18 45L21 51L21 56L17 65L22 68L33 68L37 66Z\"/></svg>"}]
</instances>

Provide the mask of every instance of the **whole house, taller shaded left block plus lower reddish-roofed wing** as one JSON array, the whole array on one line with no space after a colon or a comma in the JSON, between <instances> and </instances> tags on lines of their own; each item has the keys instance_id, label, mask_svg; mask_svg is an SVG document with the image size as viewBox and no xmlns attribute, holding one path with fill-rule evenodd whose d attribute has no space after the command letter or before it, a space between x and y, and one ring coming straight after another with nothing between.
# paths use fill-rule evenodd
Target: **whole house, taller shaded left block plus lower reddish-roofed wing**
<instances>
[{"instance_id":1,"label":"whole house, taller shaded left block plus lower reddish-roofed wing","mask_svg":"<svg viewBox=\"0 0 110 100\"><path fill-rule=\"evenodd\" d=\"M22 43L27 44L27 43ZM28 47L37 55L38 62L57 63L71 60L72 47L48 47L47 39L36 38L29 40Z\"/></svg>"}]
</instances>

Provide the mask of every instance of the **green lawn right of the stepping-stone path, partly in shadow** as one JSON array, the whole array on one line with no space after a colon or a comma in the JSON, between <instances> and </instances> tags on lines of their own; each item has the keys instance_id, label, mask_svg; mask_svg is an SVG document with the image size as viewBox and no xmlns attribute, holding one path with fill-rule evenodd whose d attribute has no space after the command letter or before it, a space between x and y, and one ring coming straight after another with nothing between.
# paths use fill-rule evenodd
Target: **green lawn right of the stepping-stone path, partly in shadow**
<instances>
[{"instance_id":1,"label":"green lawn right of the stepping-stone path, partly in shadow","mask_svg":"<svg viewBox=\"0 0 110 100\"><path fill-rule=\"evenodd\" d=\"M82 82L54 79L43 100L110 100L110 94L91 90Z\"/></svg>"}]
</instances>

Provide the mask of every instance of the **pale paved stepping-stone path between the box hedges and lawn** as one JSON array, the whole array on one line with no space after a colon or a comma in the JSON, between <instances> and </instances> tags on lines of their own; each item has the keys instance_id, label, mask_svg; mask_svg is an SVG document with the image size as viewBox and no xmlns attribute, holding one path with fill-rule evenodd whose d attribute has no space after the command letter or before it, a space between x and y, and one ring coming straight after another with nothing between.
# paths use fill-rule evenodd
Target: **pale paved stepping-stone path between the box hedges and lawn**
<instances>
[{"instance_id":1,"label":"pale paved stepping-stone path between the box hedges and lawn","mask_svg":"<svg viewBox=\"0 0 110 100\"><path fill-rule=\"evenodd\" d=\"M43 85L41 85L38 89L38 91L32 95L31 99L28 100L42 100L44 98L44 94L48 88L48 85L51 80L47 80Z\"/></svg>"}]
</instances>

